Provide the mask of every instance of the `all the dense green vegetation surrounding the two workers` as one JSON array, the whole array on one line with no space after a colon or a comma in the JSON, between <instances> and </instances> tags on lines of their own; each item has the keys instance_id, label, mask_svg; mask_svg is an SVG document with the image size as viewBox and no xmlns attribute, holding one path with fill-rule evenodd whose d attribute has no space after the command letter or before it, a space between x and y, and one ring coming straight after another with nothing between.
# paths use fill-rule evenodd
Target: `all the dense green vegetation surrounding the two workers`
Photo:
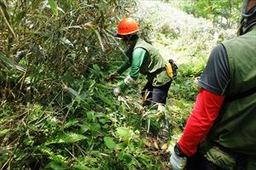
<instances>
[{"instance_id":1,"label":"all the dense green vegetation surrounding the two workers","mask_svg":"<svg viewBox=\"0 0 256 170\"><path fill-rule=\"evenodd\" d=\"M0 0L0 169L168 169L211 49L236 36L241 1ZM119 99L125 16L176 60L165 114L143 110L145 77ZM145 146L168 120L166 150Z\"/></svg>"}]
</instances>

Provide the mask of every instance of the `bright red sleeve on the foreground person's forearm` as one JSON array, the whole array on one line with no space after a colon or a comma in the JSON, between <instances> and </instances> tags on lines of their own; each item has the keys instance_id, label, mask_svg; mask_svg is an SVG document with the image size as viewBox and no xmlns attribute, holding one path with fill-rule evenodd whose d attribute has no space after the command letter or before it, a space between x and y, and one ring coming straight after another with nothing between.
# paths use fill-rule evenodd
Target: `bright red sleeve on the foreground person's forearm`
<instances>
[{"instance_id":1,"label":"bright red sleeve on the foreground person's forearm","mask_svg":"<svg viewBox=\"0 0 256 170\"><path fill-rule=\"evenodd\" d=\"M218 117L218 111L223 101L223 95L212 94L201 88L183 135L178 142L181 150L187 156L195 154L198 144L207 135L213 122Z\"/></svg>"}]
</instances>

